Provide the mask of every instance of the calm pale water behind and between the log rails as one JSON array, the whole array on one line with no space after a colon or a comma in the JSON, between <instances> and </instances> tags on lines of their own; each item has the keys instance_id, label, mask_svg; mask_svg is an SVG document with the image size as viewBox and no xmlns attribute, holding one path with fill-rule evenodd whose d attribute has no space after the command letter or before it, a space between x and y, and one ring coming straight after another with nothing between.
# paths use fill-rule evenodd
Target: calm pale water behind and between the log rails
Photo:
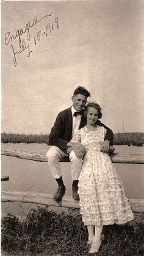
<instances>
[{"instance_id":1,"label":"calm pale water behind and between the log rails","mask_svg":"<svg viewBox=\"0 0 144 256\"><path fill-rule=\"evenodd\" d=\"M144 147L128 147L127 145L115 146L115 152L142 153ZM46 154L49 146L46 144L2 144L2 148L24 150ZM2 176L9 175L9 181L2 182L2 191L37 192L40 194L54 194L57 188L56 181L52 178L48 163L39 163L31 160L2 156ZM67 187L66 195L71 195L71 170L70 163L61 163L63 181ZM143 164L114 164L120 176L124 191L129 199L144 198L144 165ZM21 205L21 211L26 213L26 205ZM27 208L27 209L28 209ZM4 213L18 214L20 203L2 203Z\"/></svg>"}]
</instances>

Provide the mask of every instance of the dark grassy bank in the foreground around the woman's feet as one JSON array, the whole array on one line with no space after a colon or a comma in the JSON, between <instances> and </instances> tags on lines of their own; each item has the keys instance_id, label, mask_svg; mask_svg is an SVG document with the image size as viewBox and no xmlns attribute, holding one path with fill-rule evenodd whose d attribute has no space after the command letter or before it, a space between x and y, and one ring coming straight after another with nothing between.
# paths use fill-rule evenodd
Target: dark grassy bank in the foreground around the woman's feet
<instances>
[{"instance_id":1,"label":"dark grassy bank in the foreground around the woman's feet","mask_svg":"<svg viewBox=\"0 0 144 256\"><path fill-rule=\"evenodd\" d=\"M142 256L142 223L107 225L97 256ZM2 251L7 255L86 256L87 230L79 210L31 210L24 221L15 216L2 219Z\"/></svg>"}]
</instances>

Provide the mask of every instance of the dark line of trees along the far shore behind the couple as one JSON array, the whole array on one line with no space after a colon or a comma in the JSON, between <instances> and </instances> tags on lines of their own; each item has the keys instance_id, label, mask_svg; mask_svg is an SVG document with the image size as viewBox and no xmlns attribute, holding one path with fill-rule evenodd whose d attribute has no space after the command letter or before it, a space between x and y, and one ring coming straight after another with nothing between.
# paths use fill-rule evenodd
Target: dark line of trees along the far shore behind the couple
<instances>
[{"instance_id":1,"label":"dark line of trees along the far shore behind the couple","mask_svg":"<svg viewBox=\"0 0 144 256\"><path fill-rule=\"evenodd\" d=\"M49 134L16 134L1 133L2 143L43 143L49 145ZM115 133L114 145L137 145L144 144L144 133Z\"/></svg>"}]
</instances>

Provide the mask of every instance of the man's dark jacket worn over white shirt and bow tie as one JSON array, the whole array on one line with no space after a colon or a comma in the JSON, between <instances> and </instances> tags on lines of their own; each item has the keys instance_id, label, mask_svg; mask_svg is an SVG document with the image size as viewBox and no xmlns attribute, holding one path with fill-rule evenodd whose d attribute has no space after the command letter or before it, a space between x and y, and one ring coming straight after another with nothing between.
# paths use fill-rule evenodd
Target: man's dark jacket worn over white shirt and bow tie
<instances>
[{"instance_id":1,"label":"man's dark jacket worn over white shirt and bow tie","mask_svg":"<svg viewBox=\"0 0 144 256\"><path fill-rule=\"evenodd\" d=\"M79 129L84 127L87 123L86 117L81 117L81 123ZM110 141L110 145L113 145L113 132L106 125L101 123L99 120L96 122L97 125L106 128L107 133L104 139ZM49 145L54 145L59 147L61 150L67 148L68 142L71 141L73 128L73 117L71 108L65 109L57 115L54 126L49 134Z\"/></svg>"}]
</instances>

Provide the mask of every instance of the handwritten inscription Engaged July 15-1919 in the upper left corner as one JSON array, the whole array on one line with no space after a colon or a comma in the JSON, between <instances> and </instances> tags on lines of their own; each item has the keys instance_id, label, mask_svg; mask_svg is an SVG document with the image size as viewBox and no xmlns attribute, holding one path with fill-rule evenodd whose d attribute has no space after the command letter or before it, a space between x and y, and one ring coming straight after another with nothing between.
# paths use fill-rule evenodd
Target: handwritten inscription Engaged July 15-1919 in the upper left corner
<instances>
[{"instance_id":1,"label":"handwritten inscription Engaged July 15-1919 in the upper left corner","mask_svg":"<svg viewBox=\"0 0 144 256\"><path fill-rule=\"evenodd\" d=\"M34 27L35 24L40 23L41 20L44 20L48 16L52 16L51 14L43 16L40 20L38 20L37 16L34 17L34 20L32 23L28 21L26 23L26 26L24 29L18 29L15 34L10 35L10 32L7 32L5 34L5 45L10 45L10 48L12 49L13 53L13 64L17 65L17 60L16 56L18 54L23 53L27 49L27 57L31 56L31 53L33 52L30 49L30 44L32 44L32 39L31 39L31 29ZM42 32L41 30L37 32L37 34L34 37L34 46L37 45L37 42L41 40L41 37L45 35L48 37L48 34L54 31L54 29L59 29L59 23L58 23L58 18L54 18L54 21L48 22L45 24L45 31ZM23 35L26 35L26 41L22 38ZM18 47L19 49L15 49L15 46L13 45L15 40L18 39Z\"/></svg>"}]
</instances>

